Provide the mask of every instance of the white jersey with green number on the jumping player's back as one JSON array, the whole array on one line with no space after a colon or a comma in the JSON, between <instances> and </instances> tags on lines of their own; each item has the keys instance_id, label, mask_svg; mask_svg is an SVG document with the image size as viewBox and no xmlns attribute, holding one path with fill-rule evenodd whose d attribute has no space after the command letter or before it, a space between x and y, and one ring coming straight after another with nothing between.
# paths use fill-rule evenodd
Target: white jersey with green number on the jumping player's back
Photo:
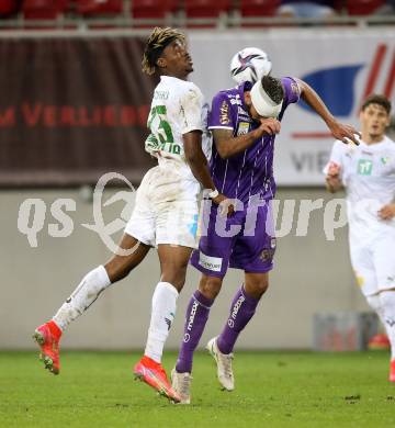
<instances>
[{"instance_id":1,"label":"white jersey with green number on the jumping player's back","mask_svg":"<svg viewBox=\"0 0 395 428\"><path fill-rule=\"evenodd\" d=\"M147 123L151 135L146 142L146 150L158 158L160 168L178 171L183 180L196 181L185 159L182 135L202 131L202 148L208 156L207 112L203 94L194 83L160 77Z\"/></svg>"}]
</instances>

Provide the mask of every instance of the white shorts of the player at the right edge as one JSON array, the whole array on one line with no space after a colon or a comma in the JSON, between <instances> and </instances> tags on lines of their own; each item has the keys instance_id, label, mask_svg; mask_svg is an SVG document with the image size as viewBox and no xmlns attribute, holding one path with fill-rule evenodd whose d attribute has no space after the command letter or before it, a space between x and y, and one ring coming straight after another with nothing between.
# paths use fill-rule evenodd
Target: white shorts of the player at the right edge
<instances>
[{"instance_id":1,"label":"white shorts of the player at the right edge","mask_svg":"<svg viewBox=\"0 0 395 428\"><path fill-rule=\"evenodd\" d=\"M381 236L364 246L350 246L357 282L365 296L395 288L394 235Z\"/></svg>"}]
</instances>

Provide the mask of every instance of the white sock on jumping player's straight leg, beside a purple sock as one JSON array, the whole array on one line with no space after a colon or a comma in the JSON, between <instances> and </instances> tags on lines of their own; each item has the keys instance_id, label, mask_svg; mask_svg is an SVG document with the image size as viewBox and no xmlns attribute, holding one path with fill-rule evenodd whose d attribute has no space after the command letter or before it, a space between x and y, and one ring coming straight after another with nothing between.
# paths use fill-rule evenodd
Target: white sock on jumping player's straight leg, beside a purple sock
<instances>
[{"instance_id":1,"label":"white sock on jumping player's straight leg, beside a purple sock","mask_svg":"<svg viewBox=\"0 0 395 428\"><path fill-rule=\"evenodd\" d=\"M169 282L159 282L153 295L151 318L144 354L161 362L163 346L176 315L179 293Z\"/></svg>"}]
</instances>

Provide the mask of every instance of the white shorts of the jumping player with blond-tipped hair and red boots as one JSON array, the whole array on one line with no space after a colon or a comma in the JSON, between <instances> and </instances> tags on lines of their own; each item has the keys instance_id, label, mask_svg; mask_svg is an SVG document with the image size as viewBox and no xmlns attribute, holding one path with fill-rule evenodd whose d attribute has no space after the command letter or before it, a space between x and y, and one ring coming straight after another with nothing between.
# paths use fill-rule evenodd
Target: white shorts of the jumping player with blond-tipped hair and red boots
<instances>
[{"instance_id":1,"label":"white shorts of the jumping player with blond-tipped hair and red boots","mask_svg":"<svg viewBox=\"0 0 395 428\"><path fill-rule=\"evenodd\" d=\"M151 168L137 190L125 233L151 247L172 244L196 248L199 191L198 182Z\"/></svg>"}]
</instances>

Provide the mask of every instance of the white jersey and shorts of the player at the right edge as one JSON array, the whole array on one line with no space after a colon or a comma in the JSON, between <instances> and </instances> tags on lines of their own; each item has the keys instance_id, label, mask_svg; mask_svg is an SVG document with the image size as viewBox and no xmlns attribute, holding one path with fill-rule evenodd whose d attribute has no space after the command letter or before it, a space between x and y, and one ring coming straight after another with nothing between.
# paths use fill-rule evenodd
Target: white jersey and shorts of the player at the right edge
<instances>
[{"instance_id":1,"label":"white jersey and shorts of the player at the right edge","mask_svg":"<svg viewBox=\"0 0 395 428\"><path fill-rule=\"evenodd\" d=\"M395 143L388 137L368 145L336 142L330 166L340 167L347 191L351 262L365 296L395 288L395 218L380 210L395 198Z\"/></svg>"}]
</instances>

